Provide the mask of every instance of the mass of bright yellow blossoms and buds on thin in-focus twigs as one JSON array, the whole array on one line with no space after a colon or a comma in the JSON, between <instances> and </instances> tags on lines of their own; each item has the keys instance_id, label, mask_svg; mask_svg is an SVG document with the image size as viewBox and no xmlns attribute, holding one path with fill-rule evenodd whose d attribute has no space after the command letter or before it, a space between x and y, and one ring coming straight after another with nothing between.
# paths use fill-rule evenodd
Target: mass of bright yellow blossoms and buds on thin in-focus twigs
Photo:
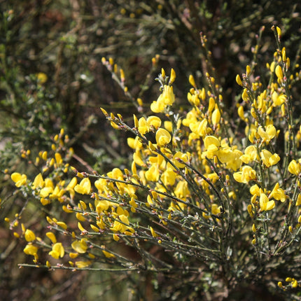
<instances>
[{"instance_id":1,"label":"mass of bright yellow blossoms and buds on thin in-focus twigs","mask_svg":"<svg viewBox=\"0 0 301 301\"><path fill-rule=\"evenodd\" d=\"M280 31L274 31L280 43ZM76 176L64 180L72 151L62 156L53 146L53 158L40 154L38 160L44 165L33 181L25 174L12 174L15 186L30 191L43 206L58 201L78 220L74 228L47 216L50 231L45 236L50 241L22 224L21 235L28 242L25 253L34 256L36 265L47 267L53 266L50 259L45 264L38 261L38 253L46 249L55 260L68 254L71 268L111 262L128 269L172 269L151 253L155 244L173 251L174 260L181 261L183 255L192 258L189 269L197 270L199 259L221 265L237 260L235 265L244 265L239 255L242 240L260 264L290 248L301 229L301 159L297 158L301 129L293 119L290 60L285 48L280 49L267 64L266 87L254 76L254 66L237 76L242 102L232 123L222 88L209 73L206 88L198 88L189 77L190 110L174 113L176 73L172 69L169 77L162 69L158 78L162 93L151 104L157 115L134 116L131 126L120 114L102 109L114 128L132 133L127 139L133 150L129 169L87 174L71 168ZM103 63L113 66L106 59ZM124 84L121 71L120 76ZM137 102L142 104L141 99ZM62 146L63 137L62 131L55 138ZM19 218L13 221L14 228ZM61 242L55 232L61 233ZM66 235L71 242L64 239ZM117 241L137 249L141 258L126 258L114 245ZM85 259L73 261L78 256ZM210 270L204 262L198 264Z\"/></svg>"}]
</instances>

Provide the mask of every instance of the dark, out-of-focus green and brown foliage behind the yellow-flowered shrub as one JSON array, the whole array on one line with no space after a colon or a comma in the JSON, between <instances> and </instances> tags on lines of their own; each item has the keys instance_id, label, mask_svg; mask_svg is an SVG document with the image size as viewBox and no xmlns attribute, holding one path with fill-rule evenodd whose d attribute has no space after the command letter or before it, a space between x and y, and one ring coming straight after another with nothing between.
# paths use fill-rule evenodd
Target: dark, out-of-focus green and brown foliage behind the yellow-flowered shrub
<instances>
[{"instance_id":1,"label":"dark, out-of-focus green and brown foliage behind the yellow-flowered shrub","mask_svg":"<svg viewBox=\"0 0 301 301\"><path fill-rule=\"evenodd\" d=\"M245 72L246 64L253 61L255 73L263 76L265 62L272 61L272 25L281 27L292 64L299 59L300 6L297 1L274 0L1 0L1 298L121 300L123 296L130 300L132 296L135 300L139 296L168 300L169 292L161 292L158 286L164 279L151 286L148 279L142 279L145 284L138 288L139 281L125 281L123 274L18 269L18 263L27 260L22 255L24 246L18 244L3 218L18 213L24 200L12 195L6 169L9 173L16 167L18 172L22 167L28 169L20 152L30 149L37 154L50 148L62 127L75 151L72 164L81 171L89 167L103 173L127 166L125 133L109 127L99 106L123 116L147 115L148 104L159 94L154 79L161 67L176 70L179 107L185 110L187 104L189 74L202 87L207 85L204 74L208 71L223 87L225 107L231 111L240 90L235 82L237 73ZM266 29L258 41L262 26ZM202 46L201 32L207 36L207 48ZM160 59L153 66L155 55ZM113 57L124 69L130 94L144 101L143 112L137 112L112 79L102 57ZM300 87L294 92L300 95ZM27 214L38 227L41 217L35 216L35 209Z\"/></svg>"}]
</instances>

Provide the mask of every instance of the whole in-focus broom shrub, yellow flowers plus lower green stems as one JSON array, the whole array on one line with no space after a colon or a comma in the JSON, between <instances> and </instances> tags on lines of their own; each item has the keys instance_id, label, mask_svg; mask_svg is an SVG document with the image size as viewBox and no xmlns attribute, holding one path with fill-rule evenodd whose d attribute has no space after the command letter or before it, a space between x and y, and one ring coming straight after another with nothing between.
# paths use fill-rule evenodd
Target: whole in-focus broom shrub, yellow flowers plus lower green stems
<instances>
[{"instance_id":1,"label":"whole in-focus broom shrub, yellow flowers plus lower green stems","mask_svg":"<svg viewBox=\"0 0 301 301\"><path fill-rule=\"evenodd\" d=\"M256 300L266 292L296 298L301 129L292 91L300 75L281 30L272 30L276 52L265 72L257 76L250 64L236 77L236 112L208 72L206 87L189 76L188 104L178 103L174 69L158 76L152 113L125 122L102 109L114 129L129 133L125 168L70 167L64 130L51 150L36 158L25 151L37 172L11 174L24 204L6 218L34 261L20 266L124 273L137 298L241 299L243 291ZM123 69L102 62L131 96ZM28 223L27 207L41 217L38 227Z\"/></svg>"}]
</instances>

